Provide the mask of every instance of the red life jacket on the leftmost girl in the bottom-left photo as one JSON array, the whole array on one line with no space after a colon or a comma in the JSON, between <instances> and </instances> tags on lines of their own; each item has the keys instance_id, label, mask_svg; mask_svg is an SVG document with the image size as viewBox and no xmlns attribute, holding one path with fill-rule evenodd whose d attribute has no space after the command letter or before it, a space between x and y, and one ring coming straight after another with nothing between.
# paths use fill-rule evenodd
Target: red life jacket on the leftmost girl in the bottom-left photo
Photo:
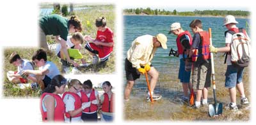
<instances>
[{"instance_id":1,"label":"red life jacket on the leftmost girl in the bottom-left photo","mask_svg":"<svg viewBox=\"0 0 256 125\"><path fill-rule=\"evenodd\" d=\"M63 103L61 97L58 94L52 94L44 92L40 98L40 110L42 114L43 122L47 121L47 112L44 112L42 104L44 97L49 94L56 100L56 107L54 108L54 121L64 121L65 103Z\"/></svg>"}]
</instances>

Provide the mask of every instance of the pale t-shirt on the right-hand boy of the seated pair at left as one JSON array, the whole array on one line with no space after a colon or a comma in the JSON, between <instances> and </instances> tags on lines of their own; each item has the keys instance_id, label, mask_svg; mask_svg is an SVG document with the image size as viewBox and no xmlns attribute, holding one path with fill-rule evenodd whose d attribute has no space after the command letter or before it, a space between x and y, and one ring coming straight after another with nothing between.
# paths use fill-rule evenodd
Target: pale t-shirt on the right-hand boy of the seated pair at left
<instances>
[{"instance_id":1,"label":"pale t-shirt on the right-hand boy of the seated pair at left","mask_svg":"<svg viewBox=\"0 0 256 125\"><path fill-rule=\"evenodd\" d=\"M39 68L40 71L45 70L45 69L49 70L49 73L47 73L46 75L50 78L53 78L56 75L60 75L60 71L58 70L56 64L52 63L51 61L46 61L44 66L41 66Z\"/></svg>"}]
</instances>

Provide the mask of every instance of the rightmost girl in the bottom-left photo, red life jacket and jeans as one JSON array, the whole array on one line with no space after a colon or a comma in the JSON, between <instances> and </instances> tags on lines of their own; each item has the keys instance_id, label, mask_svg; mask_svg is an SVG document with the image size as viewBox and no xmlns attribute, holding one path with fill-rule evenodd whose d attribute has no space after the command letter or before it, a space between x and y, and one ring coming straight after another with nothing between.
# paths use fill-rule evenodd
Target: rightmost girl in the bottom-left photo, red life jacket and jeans
<instances>
[{"instance_id":1,"label":"rightmost girl in the bottom-left photo, red life jacket and jeans","mask_svg":"<svg viewBox=\"0 0 256 125\"><path fill-rule=\"evenodd\" d=\"M108 81L103 82L102 89L104 91L104 94L100 96L100 104L102 105L101 120L110 122L110 121L113 121L113 115L114 115L113 104L115 103L114 101L115 95L111 91L112 85Z\"/></svg>"}]
</instances>

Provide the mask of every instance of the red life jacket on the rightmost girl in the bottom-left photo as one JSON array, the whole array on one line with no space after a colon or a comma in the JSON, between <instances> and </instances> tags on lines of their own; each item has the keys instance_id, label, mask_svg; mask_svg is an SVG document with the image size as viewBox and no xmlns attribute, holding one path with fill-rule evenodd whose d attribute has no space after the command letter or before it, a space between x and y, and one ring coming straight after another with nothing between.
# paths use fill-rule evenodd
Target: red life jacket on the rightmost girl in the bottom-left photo
<instances>
[{"instance_id":1,"label":"red life jacket on the rightmost girl in the bottom-left photo","mask_svg":"<svg viewBox=\"0 0 256 125\"><path fill-rule=\"evenodd\" d=\"M113 102L114 102L114 94L111 95L109 100L108 94L104 93L104 101L102 103L102 111L103 112L113 112Z\"/></svg>"}]
</instances>

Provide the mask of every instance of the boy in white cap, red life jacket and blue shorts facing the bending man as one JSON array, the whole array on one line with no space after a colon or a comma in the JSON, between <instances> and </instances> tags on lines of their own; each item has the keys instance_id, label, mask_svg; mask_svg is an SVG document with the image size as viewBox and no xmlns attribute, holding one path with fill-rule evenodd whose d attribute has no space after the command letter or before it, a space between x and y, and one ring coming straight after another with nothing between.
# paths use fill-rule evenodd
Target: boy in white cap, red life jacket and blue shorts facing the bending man
<instances>
[{"instance_id":1,"label":"boy in white cap, red life jacket and blue shorts facing the bending man","mask_svg":"<svg viewBox=\"0 0 256 125\"><path fill-rule=\"evenodd\" d=\"M179 79L180 79L180 82L182 83L183 92L184 92L184 96L182 99L184 99L184 101L188 101L189 100L188 90L189 88L192 88L192 84L189 83L191 71L185 70L185 66L186 66L185 59L187 59L188 57L189 49L192 44L191 34L189 33L189 31L184 31L180 26L179 22L174 22L171 25L169 33L173 33L174 35L177 36L177 39L176 39L176 44L178 48L177 52L179 54L179 59L180 59Z\"/></svg>"}]
</instances>

